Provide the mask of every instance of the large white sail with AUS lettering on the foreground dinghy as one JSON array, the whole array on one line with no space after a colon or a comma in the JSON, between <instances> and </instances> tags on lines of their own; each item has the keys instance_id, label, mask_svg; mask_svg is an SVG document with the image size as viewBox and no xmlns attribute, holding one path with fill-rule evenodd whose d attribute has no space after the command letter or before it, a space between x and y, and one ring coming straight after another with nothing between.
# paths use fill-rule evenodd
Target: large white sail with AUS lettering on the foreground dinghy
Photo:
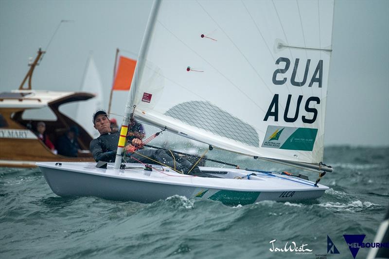
<instances>
[{"instance_id":1,"label":"large white sail with AUS lettering on the foreground dinghy","mask_svg":"<svg viewBox=\"0 0 389 259\"><path fill-rule=\"evenodd\" d=\"M135 117L233 152L321 162L333 10L162 1L131 86Z\"/></svg>"}]
</instances>

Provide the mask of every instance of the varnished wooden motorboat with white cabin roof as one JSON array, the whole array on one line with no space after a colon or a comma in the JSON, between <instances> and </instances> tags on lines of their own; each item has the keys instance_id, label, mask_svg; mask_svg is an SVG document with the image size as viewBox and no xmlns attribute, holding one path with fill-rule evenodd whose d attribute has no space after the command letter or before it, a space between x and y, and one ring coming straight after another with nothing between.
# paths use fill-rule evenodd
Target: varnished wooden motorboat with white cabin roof
<instances>
[{"instance_id":1,"label":"varnished wooden motorboat with white cabin roof","mask_svg":"<svg viewBox=\"0 0 389 259\"><path fill-rule=\"evenodd\" d=\"M71 91L33 90L31 77L38 60L44 51L39 49L38 55L27 72L18 90L0 93L0 166L7 167L35 167L37 161L94 161L89 152L89 143L92 140L88 132L76 121L59 111L59 106L71 102L88 100L94 94ZM23 88L28 80L28 88ZM25 119L26 111L35 109L50 109L55 120ZM55 141L64 135L70 126L79 130L78 143L82 151L77 157L67 157L54 154L34 133L36 124L43 121L46 124L46 134Z\"/></svg>"}]
</instances>

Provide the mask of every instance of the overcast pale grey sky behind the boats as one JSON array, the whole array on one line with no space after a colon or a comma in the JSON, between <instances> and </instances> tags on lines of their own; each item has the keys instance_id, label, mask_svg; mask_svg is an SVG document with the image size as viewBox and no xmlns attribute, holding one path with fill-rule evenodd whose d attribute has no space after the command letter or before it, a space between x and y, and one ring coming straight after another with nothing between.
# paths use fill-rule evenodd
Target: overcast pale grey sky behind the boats
<instances>
[{"instance_id":1,"label":"overcast pale grey sky behind the boats","mask_svg":"<svg viewBox=\"0 0 389 259\"><path fill-rule=\"evenodd\" d=\"M18 88L46 47L35 89L79 90L89 52L108 96L115 50L136 57L151 1L0 1L0 88ZM336 1L325 144L389 145L389 1ZM112 112L123 113L117 92Z\"/></svg>"}]
</instances>

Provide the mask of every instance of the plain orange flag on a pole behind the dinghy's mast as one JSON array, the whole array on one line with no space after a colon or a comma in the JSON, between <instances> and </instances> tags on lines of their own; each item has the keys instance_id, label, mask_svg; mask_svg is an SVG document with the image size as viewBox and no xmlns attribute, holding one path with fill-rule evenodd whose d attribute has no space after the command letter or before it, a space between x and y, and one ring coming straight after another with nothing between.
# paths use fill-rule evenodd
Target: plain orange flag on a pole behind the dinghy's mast
<instances>
[{"instance_id":1,"label":"plain orange flag on a pole behind the dinghy's mast","mask_svg":"<svg viewBox=\"0 0 389 259\"><path fill-rule=\"evenodd\" d=\"M132 76L134 75L136 60L120 56L119 66L116 71L113 90L129 90L131 86Z\"/></svg>"}]
</instances>

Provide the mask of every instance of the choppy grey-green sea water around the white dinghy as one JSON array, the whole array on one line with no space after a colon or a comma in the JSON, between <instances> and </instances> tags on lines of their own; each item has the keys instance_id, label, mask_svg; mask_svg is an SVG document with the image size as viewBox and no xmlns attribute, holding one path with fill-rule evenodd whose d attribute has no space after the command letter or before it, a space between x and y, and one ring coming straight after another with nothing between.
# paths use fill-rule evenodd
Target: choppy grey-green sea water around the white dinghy
<instances>
[{"instance_id":1,"label":"choppy grey-green sea water around the white dinghy","mask_svg":"<svg viewBox=\"0 0 389 259\"><path fill-rule=\"evenodd\" d=\"M180 196L152 204L61 198L39 169L1 168L0 258L353 258L343 235L373 242L388 209L389 148L328 147L324 156L334 172L321 180L330 187L321 198L236 207ZM244 156L212 158L285 169ZM327 253L327 236L339 254ZM368 252L360 248L356 258Z\"/></svg>"}]
</instances>

